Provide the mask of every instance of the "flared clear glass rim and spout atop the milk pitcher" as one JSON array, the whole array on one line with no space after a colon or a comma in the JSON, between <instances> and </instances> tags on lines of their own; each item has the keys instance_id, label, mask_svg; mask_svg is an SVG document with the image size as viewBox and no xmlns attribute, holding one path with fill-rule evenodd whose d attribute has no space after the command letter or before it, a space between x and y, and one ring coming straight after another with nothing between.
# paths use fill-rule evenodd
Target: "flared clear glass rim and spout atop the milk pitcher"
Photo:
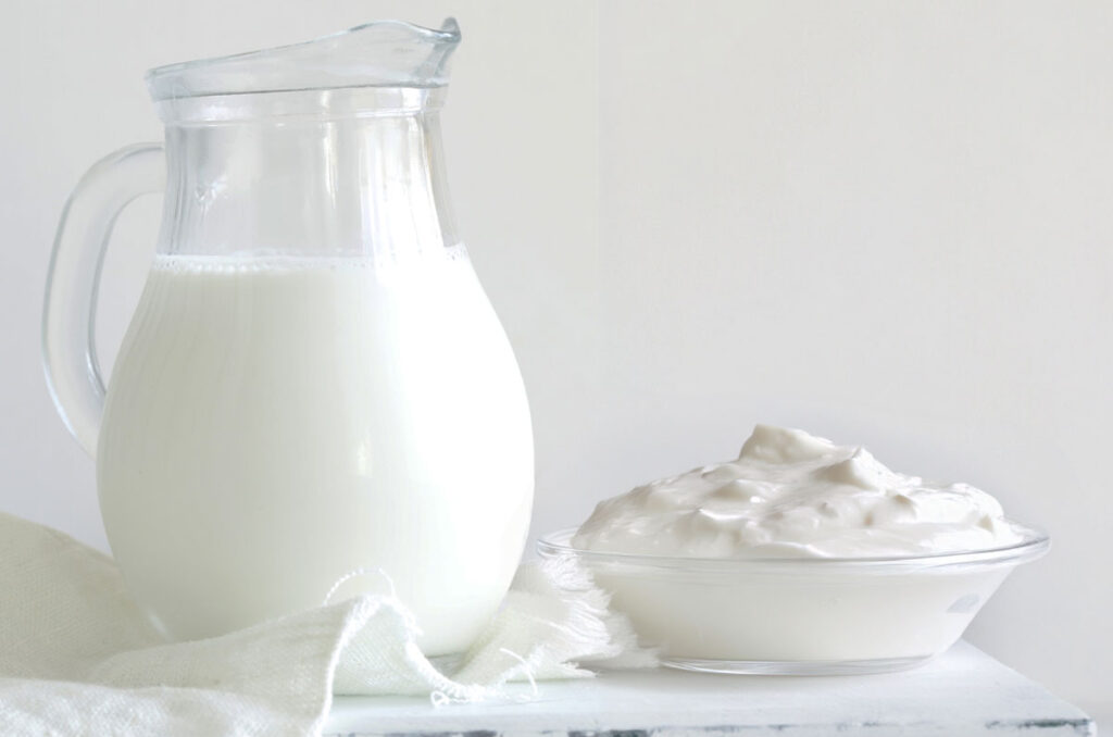
<instances>
[{"instance_id":1,"label":"flared clear glass rim and spout atop the milk pitcher","mask_svg":"<svg viewBox=\"0 0 1113 737\"><path fill-rule=\"evenodd\" d=\"M157 102L353 87L443 87L460 38L454 18L440 29L373 21L302 43L157 67L147 72L147 88Z\"/></svg>"}]
</instances>

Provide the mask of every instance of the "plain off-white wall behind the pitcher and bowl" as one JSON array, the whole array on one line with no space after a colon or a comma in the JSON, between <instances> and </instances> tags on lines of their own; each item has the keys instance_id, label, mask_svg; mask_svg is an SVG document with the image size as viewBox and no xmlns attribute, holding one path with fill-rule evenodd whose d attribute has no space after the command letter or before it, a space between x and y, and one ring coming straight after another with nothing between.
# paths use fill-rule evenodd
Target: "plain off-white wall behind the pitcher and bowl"
<instances>
[{"instance_id":1,"label":"plain off-white wall behind the pitcher and bowl","mask_svg":"<svg viewBox=\"0 0 1113 737\"><path fill-rule=\"evenodd\" d=\"M0 509L106 546L38 321L69 189L160 136L142 71L450 13L450 177L530 391L534 533L756 421L864 443L1052 531L971 639L1109 713L1110 3L8 2ZM121 218L106 356L157 219Z\"/></svg>"}]
</instances>

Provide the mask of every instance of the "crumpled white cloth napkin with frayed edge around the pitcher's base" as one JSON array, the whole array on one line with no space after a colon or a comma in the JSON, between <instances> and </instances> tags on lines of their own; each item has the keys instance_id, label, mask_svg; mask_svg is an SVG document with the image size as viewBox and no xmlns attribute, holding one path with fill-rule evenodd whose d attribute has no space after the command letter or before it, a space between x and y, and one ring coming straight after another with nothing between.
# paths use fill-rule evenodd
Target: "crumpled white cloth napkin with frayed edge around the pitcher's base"
<instances>
[{"instance_id":1,"label":"crumpled white cloth napkin with frayed edge around the pitcher's base","mask_svg":"<svg viewBox=\"0 0 1113 737\"><path fill-rule=\"evenodd\" d=\"M397 599L364 596L167 643L110 558L0 513L2 735L318 735L334 692L475 701L503 697L513 679L653 665L571 560L524 563L451 677L416 632Z\"/></svg>"}]
</instances>

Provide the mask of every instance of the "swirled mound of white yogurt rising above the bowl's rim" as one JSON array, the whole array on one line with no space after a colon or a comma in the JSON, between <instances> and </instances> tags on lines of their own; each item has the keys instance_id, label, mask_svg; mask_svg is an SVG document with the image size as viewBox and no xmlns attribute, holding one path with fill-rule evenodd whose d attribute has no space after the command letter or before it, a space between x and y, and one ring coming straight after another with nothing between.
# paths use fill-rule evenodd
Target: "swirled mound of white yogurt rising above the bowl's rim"
<instances>
[{"instance_id":1,"label":"swirled mound of white yogurt rising above the bowl's rim","mask_svg":"<svg viewBox=\"0 0 1113 737\"><path fill-rule=\"evenodd\" d=\"M1020 542L996 499L889 470L864 448L758 425L738 459L601 502L577 548L686 558L875 558Z\"/></svg>"}]
</instances>

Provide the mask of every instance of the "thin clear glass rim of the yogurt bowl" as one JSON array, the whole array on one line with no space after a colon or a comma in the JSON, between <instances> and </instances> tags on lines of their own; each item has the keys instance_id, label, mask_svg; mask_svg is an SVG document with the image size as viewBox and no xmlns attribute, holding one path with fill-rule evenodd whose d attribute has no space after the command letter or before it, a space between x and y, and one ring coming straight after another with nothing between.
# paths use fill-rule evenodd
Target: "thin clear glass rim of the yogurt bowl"
<instances>
[{"instance_id":1,"label":"thin clear glass rim of the yogurt bowl","mask_svg":"<svg viewBox=\"0 0 1113 737\"><path fill-rule=\"evenodd\" d=\"M908 569L966 568L986 566L1017 566L1042 558L1051 549L1051 535L1046 531L1017 522L1011 524L1022 533L1023 539L1008 546L979 550L956 550L910 556L881 556L868 558L686 558L680 556L654 556L647 553L609 552L588 550L572 546L571 539L578 528L563 528L541 535L536 541L538 553L543 558L575 556L588 562L626 563L631 567L698 570L754 570L815 572L853 570L858 572L881 572Z\"/></svg>"}]
</instances>

